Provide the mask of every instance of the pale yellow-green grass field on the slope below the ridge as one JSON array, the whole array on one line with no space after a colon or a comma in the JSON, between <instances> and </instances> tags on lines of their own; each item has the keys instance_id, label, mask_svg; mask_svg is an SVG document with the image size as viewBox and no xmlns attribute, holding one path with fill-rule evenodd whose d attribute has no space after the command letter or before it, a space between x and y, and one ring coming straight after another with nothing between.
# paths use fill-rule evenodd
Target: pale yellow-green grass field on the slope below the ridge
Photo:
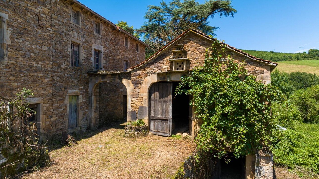
<instances>
[{"instance_id":1,"label":"pale yellow-green grass field on the slope below the ridge","mask_svg":"<svg viewBox=\"0 0 319 179\"><path fill-rule=\"evenodd\" d=\"M319 75L319 60L281 61L276 69L283 72L306 72Z\"/></svg>"}]
</instances>

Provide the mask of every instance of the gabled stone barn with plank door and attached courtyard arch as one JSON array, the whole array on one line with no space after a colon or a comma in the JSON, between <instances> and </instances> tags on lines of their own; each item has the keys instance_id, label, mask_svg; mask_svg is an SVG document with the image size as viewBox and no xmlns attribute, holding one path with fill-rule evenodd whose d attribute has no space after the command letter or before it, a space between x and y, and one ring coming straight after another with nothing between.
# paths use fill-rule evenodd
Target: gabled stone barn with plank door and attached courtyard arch
<instances>
[{"instance_id":1,"label":"gabled stone barn with plank door and attached courtyard arch","mask_svg":"<svg viewBox=\"0 0 319 179\"><path fill-rule=\"evenodd\" d=\"M196 118L194 109L189 106L190 96L176 95L174 89L183 75L192 68L203 65L206 49L216 39L189 29L153 54L142 63L131 67L127 72L98 71L88 73L89 82L89 125L94 128L101 122L100 98L96 86L102 82L122 82L128 97L127 120L144 119L153 134L171 136L182 130L196 135L201 119ZM226 53L235 62L245 61L249 74L256 75L264 84L271 82L270 73L277 63L256 58L235 47L226 45ZM174 96L174 97L173 97ZM101 109L101 108L100 108ZM272 178L272 154L249 154L238 161L244 178ZM224 162L218 162L220 169ZM223 167L222 167L223 168ZM218 175L218 174L216 174ZM219 173L220 175L220 173ZM218 178L218 177L217 177Z\"/></svg>"}]
</instances>

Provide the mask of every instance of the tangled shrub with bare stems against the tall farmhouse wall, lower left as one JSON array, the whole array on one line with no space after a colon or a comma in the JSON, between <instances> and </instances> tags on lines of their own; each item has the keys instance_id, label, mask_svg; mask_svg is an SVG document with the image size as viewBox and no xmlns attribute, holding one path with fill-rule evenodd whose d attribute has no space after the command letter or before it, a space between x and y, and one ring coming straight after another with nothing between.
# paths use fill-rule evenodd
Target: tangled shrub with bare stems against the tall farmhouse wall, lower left
<instances>
[{"instance_id":1,"label":"tangled shrub with bare stems against the tall farmhouse wall, lower left","mask_svg":"<svg viewBox=\"0 0 319 179\"><path fill-rule=\"evenodd\" d=\"M36 113L28 108L26 98L30 95L31 90L23 88L15 98L0 98L0 147L7 158L0 169L5 177L49 164L48 147L39 143L36 124L28 122ZM19 163L24 165L18 168Z\"/></svg>"}]
</instances>

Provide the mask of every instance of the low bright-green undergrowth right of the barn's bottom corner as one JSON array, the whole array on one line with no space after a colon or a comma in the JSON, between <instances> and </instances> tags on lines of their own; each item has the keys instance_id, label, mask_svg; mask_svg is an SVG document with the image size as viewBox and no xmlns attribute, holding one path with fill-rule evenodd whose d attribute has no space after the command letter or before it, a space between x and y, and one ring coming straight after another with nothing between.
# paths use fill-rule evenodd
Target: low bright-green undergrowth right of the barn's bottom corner
<instances>
[{"instance_id":1,"label":"low bright-green undergrowth right of the barn's bottom corner","mask_svg":"<svg viewBox=\"0 0 319 179\"><path fill-rule=\"evenodd\" d=\"M319 174L319 125L301 124L296 128L280 132L272 151L274 162L290 169L300 166Z\"/></svg>"}]
</instances>

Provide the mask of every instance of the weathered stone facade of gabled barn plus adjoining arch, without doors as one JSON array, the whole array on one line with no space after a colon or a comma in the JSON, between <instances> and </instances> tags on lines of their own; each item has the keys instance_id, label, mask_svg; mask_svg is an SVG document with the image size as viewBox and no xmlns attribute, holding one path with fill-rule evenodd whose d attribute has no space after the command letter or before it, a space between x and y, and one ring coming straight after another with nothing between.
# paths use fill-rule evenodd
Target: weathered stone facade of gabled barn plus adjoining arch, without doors
<instances>
[{"instance_id":1,"label":"weathered stone facade of gabled barn plus adjoining arch, without doors","mask_svg":"<svg viewBox=\"0 0 319 179\"><path fill-rule=\"evenodd\" d=\"M148 124L150 86L156 82L179 82L181 76L188 74L189 70L203 65L206 49L211 47L214 40L202 32L190 29L183 32L143 63L130 68L129 72L125 74L107 71L93 73L89 85L90 100L93 104L90 106L91 111L96 111L97 108L95 105L97 102L96 94L93 94L94 87L97 84L110 81L122 82L125 85L128 97L127 120L144 119L145 123ZM182 47L182 52L187 54L184 57L186 62L184 67L186 69L173 69L174 60L176 60L174 59L176 47ZM256 80L265 84L270 83L270 72L276 67L276 63L256 58L228 45L225 49L226 53L235 59L235 62L242 63L244 61L244 67L249 74L257 77ZM195 117L194 109L192 115L193 121L190 122L190 125L192 125L190 133L196 134L201 125L201 120ZM89 117L89 121L92 121L92 125L95 125L98 114L92 114Z\"/></svg>"}]
</instances>

